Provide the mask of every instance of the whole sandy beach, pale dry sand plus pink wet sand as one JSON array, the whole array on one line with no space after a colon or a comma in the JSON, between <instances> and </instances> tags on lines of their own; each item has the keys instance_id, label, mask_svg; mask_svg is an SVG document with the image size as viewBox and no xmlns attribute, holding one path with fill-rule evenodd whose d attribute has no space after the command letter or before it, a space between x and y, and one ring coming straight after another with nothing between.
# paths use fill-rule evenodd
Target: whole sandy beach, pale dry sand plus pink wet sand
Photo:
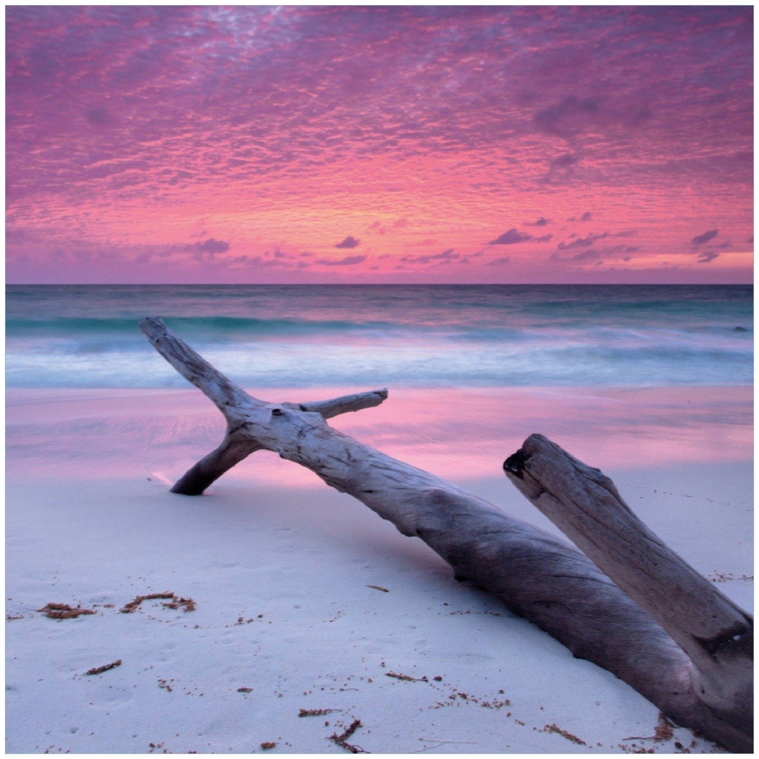
<instances>
[{"instance_id":1,"label":"whole sandy beach, pale dry sand plus pink wet sand","mask_svg":"<svg viewBox=\"0 0 759 759\"><path fill-rule=\"evenodd\" d=\"M333 423L553 531L499 471L528 433L548 433L749 608L750 402L749 389L391 389ZM350 742L373 753L691 745L686 729L625 740L653 735L656 707L290 462L257 454L209 495L168 493L222 427L192 390L9 392L6 610L20 619L7 627L7 751L346 753L328 737L354 718ZM119 613L156 591L197 609ZM35 609L49 602L96 614L46 619Z\"/></svg>"}]
</instances>

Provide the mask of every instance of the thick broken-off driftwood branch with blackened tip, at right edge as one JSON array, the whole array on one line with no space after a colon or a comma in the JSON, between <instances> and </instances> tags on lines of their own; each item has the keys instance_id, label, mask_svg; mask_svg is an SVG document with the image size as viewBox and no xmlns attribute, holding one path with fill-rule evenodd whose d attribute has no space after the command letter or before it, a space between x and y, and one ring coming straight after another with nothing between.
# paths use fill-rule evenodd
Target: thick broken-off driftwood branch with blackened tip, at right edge
<instances>
[{"instance_id":1,"label":"thick broken-off driftwood branch with blackened tip, at right edge","mask_svg":"<svg viewBox=\"0 0 759 759\"><path fill-rule=\"evenodd\" d=\"M546 437L528 437L503 468L518 490L688 654L698 698L750 735L751 616L653 534L612 480Z\"/></svg>"}]
</instances>

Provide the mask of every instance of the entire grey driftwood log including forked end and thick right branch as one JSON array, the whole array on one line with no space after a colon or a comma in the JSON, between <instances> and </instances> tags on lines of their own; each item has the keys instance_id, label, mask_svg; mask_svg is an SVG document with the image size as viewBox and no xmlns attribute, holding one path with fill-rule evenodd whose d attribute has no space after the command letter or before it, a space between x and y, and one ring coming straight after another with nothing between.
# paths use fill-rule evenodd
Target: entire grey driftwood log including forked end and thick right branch
<instances>
[{"instance_id":1,"label":"entire grey driftwood log including forked end and thick right branch","mask_svg":"<svg viewBox=\"0 0 759 759\"><path fill-rule=\"evenodd\" d=\"M260 401L161 320L149 317L140 327L227 421L222 444L172 492L198 495L250 453L275 451L350 493L402 534L420 537L456 579L490 591L678 725L730 751L751 751L751 617L650 533L600 471L541 436L531 436L504 465L518 489L586 556L326 424L337 414L379 405L386 390L303 404Z\"/></svg>"}]
</instances>

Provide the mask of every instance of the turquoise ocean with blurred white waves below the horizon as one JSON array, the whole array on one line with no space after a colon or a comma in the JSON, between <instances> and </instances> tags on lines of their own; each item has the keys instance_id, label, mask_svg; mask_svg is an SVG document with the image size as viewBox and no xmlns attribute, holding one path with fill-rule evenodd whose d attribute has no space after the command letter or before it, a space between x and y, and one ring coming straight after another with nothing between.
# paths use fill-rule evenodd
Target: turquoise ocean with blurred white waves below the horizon
<instances>
[{"instance_id":1,"label":"turquoise ocean with blurred white waves below the horizon","mask_svg":"<svg viewBox=\"0 0 759 759\"><path fill-rule=\"evenodd\" d=\"M140 332L146 315L246 387L753 381L750 285L9 285L6 294L10 387L186 387Z\"/></svg>"}]
</instances>

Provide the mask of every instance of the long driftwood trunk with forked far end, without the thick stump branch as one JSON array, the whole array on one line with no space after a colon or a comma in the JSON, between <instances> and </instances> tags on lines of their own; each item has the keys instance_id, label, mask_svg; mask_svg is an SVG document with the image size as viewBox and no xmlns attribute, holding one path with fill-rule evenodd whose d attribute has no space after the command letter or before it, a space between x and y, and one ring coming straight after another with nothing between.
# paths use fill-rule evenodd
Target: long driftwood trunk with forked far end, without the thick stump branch
<instances>
[{"instance_id":1,"label":"long driftwood trunk with forked far end, without the thick stump branch","mask_svg":"<svg viewBox=\"0 0 759 759\"><path fill-rule=\"evenodd\" d=\"M424 540L458 580L492 592L568 647L653 701L672 720L734 751L744 732L694 693L684 650L586 556L467 493L329 427L326 418L369 408L386 391L310 404L272 404L237 388L157 319L140 323L160 354L225 414L225 441L173 490L202 493L250 452L279 453L350 493L404 535Z\"/></svg>"}]
</instances>

